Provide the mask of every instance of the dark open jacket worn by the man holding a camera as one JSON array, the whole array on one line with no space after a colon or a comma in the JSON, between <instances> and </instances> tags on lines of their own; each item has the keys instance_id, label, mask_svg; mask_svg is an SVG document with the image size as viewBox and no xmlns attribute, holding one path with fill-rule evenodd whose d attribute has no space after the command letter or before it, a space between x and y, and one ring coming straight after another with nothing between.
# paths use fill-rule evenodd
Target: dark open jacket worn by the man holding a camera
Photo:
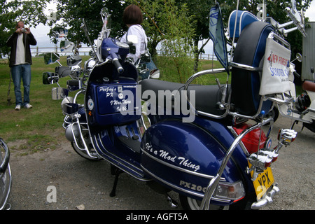
<instances>
[{"instance_id":1,"label":"dark open jacket worn by the man holding a camera","mask_svg":"<svg viewBox=\"0 0 315 224\"><path fill-rule=\"evenodd\" d=\"M18 42L18 35L16 32L14 32L9 38L8 41L6 41L6 45L8 47L11 47L11 53L10 53L10 59L9 59L9 66L12 67L15 65L15 57L16 57L16 47ZM29 45L36 45L36 39L34 38L33 34L25 34L23 35L23 43L25 46L25 62L32 64L31 62L31 48Z\"/></svg>"}]
</instances>

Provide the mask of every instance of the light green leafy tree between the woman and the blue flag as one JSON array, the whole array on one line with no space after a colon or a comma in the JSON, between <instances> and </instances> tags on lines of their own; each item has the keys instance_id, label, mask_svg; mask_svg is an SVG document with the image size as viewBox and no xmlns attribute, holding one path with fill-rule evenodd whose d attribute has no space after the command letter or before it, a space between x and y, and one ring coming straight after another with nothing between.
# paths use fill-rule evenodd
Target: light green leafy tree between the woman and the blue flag
<instances>
[{"instance_id":1,"label":"light green leafy tree between the woman and the blue flag","mask_svg":"<svg viewBox=\"0 0 315 224\"><path fill-rule=\"evenodd\" d=\"M190 55L193 54L195 25L186 4L176 6L176 0L127 1L139 6L144 12L143 27L149 41L149 50L154 53L160 43L162 57L159 69L162 76L176 73L176 82L186 82L192 75ZM169 78L168 78L169 80Z\"/></svg>"}]
</instances>

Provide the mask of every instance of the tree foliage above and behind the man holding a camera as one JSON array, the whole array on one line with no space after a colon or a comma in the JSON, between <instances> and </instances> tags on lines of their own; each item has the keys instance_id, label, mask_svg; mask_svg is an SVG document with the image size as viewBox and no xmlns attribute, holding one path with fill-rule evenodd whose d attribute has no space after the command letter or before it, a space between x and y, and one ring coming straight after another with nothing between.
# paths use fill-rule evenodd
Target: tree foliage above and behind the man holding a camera
<instances>
[{"instance_id":1,"label":"tree foliage above and behind the man holding a camera","mask_svg":"<svg viewBox=\"0 0 315 224\"><path fill-rule=\"evenodd\" d=\"M7 55L9 48L6 46L6 41L9 36L15 31L15 25L22 20L27 27L36 27L39 23L45 24L47 18L44 9L49 0L39 1L6 1L0 0L0 57Z\"/></svg>"}]
</instances>

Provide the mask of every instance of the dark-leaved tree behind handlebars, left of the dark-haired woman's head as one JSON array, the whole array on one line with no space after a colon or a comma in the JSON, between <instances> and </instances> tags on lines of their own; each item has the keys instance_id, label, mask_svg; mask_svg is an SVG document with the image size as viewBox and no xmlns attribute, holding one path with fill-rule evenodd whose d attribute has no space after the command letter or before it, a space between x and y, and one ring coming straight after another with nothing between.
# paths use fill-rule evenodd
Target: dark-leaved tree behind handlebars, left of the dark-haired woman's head
<instances>
[{"instance_id":1,"label":"dark-leaved tree behind handlebars, left of the dark-haired woman's head","mask_svg":"<svg viewBox=\"0 0 315 224\"><path fill-rule=\"evenodd\" d=\"M83 19L89 30L89 37L94 40L102 30L102 8L108 8L111 13L111 36L123 36L127 28L123 24L123 10L125 3L117 0L89 1L89 0L58 0L57 1L57 21L50 21L52 26L49 36L54 43L57 43L55 31L58 29L68 29L68 38L74 43L88 43L87 37L81 26Z\"/></svg>"}]
</instances>

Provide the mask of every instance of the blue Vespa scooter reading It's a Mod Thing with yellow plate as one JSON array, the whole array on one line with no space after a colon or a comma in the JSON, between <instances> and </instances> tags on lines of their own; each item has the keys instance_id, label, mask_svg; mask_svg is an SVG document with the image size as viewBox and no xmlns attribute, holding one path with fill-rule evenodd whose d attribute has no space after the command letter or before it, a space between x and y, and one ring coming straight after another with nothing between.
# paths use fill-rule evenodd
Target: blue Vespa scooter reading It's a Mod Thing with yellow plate
<instances>
[{"instance_id":1,"label":"blue Vespa scooter reading It's a Mod Thing with yellow plate","mask_svg":"<svg viewBox=\"0 0 315 224\"><path fill-rule=\"evenodd\" d=\"M218 5L211 10L221 13ZM263 67L266 49L280 48L281 57L289 57L276 29L251 13L232 13L230 22L240 32L231 31L239 35L229 64L231 84L191 84L225 68L200 71L185 84L139 83L137 68L125 60L129 45L109 38L109 13L103 18L95 63L83 88L85 114L75 101L64 103L64 113L73 118L65 127L69 139L83 142L78 150L111 163L116 175L111 196L118 176L127 173L159 193L179 193L185 209L260 209L271 203L279 188L270 165L296 137L293 130L279 130L278 144L271 148L273 120L264 116L274 104L293 100L277 98L281 92L261 94L260 74L269 75Z\"/></svg>"}]
</instances>

